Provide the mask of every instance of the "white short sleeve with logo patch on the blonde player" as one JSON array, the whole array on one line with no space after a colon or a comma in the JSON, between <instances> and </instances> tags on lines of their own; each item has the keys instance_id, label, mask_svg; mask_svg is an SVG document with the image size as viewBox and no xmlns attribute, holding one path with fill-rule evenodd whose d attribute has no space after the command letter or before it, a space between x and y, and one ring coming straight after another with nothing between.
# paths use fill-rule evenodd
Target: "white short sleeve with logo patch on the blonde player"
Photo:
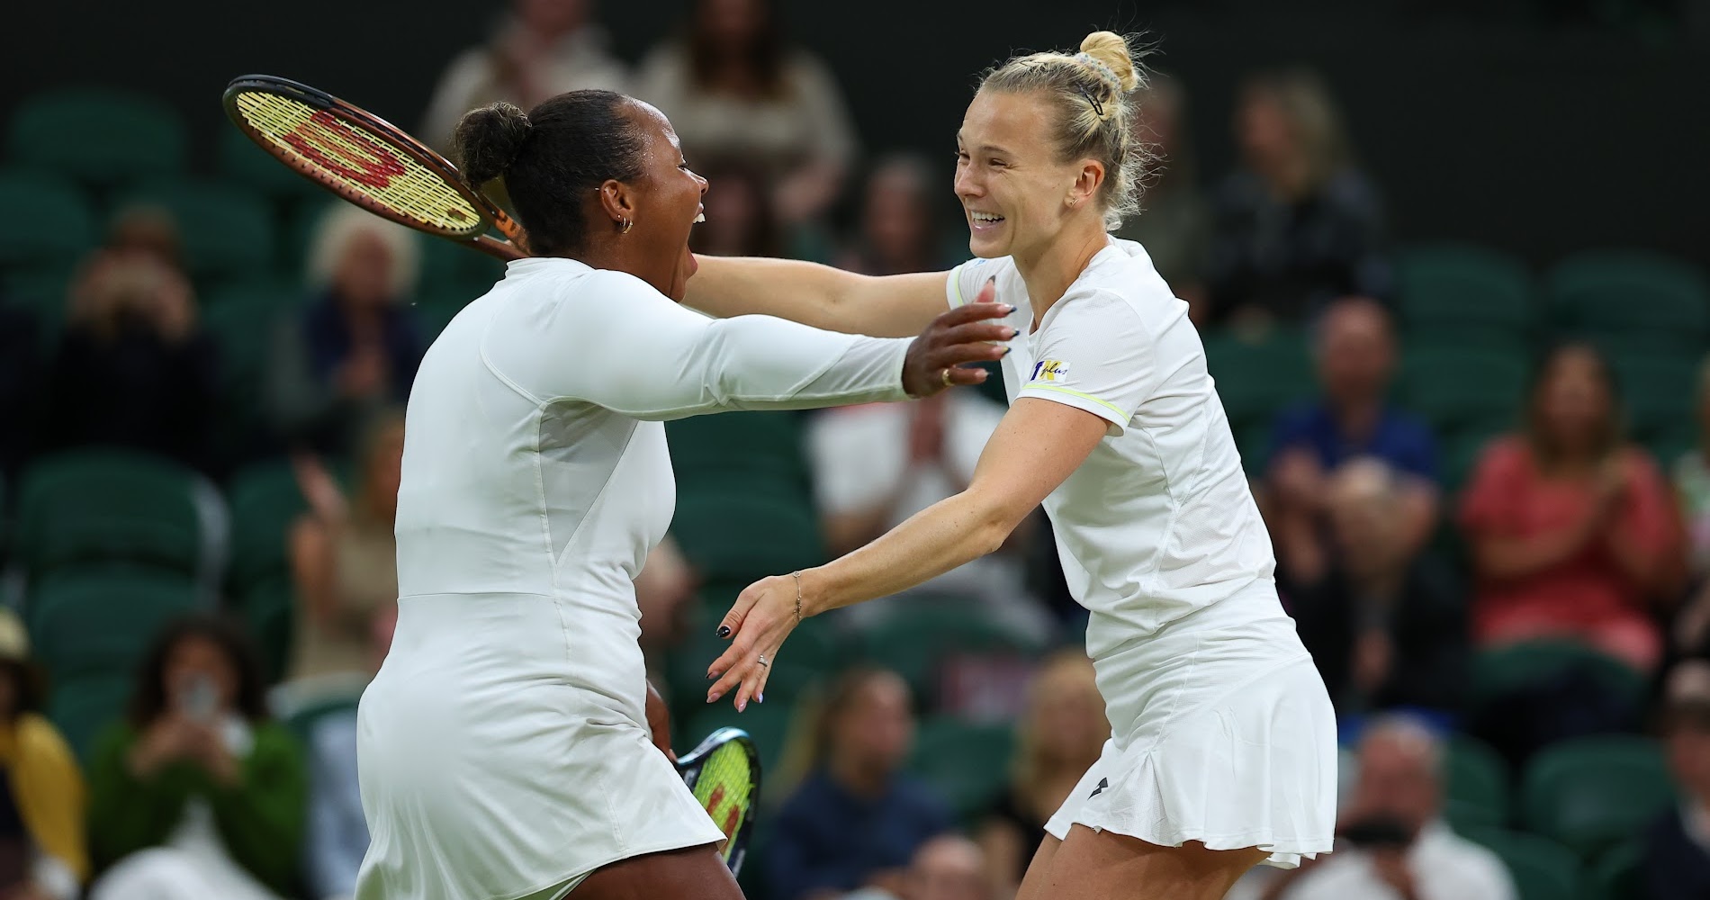
<instances>
[{"instance_id":1,"label":"white short sleeve with logo patch on the blonde player","mask_svg":"<svg viewBox=\"0 0 1710 900\"><path fill-rule=\"evenodd\" d=\"M1139 313L1110 291L1065 296L1040 335L1021 397L1084 409L1122 435L1156 378L1156 342Z\"/></svg>"}]
</instances>

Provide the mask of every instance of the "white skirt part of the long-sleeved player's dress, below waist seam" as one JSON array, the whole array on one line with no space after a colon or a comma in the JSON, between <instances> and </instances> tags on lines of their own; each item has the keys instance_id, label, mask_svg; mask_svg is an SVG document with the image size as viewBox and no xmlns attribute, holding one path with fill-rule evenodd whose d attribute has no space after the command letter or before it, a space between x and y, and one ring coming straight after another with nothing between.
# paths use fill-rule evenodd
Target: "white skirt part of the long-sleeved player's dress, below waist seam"
<instances>
[{"instance_id":1,"label":"white skirt part of the long-sleeved player's dress, below waist seam","mask_svg":"<svg viewBox=\"0 0 1710 900\"><path fill-rule=\"evenodd\" d=\"M357 900L561 895L723 833L653 746L634 616L530 594L417 595L357 715Z\"/></svg>"}]
</instances>

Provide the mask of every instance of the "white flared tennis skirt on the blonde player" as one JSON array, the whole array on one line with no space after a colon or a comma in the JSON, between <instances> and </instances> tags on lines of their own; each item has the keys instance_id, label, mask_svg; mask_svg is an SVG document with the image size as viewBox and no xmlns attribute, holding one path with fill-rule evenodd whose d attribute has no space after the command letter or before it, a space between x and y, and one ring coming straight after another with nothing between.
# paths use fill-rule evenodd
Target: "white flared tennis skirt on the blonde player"
<instances>
[{"instance_id":1,"label":"white flared tennis skirt on the blonde player","mask_svg":"<svg viewBox=\"0 0 1710 900\"><path fill-rule=\"evenodd\" d=\"M1336 710L1262 583L1094 662L1112 737L1045 825L1161 847L1257 847L1291 869L1330 850Z\"/></svg>"}]
</instances>

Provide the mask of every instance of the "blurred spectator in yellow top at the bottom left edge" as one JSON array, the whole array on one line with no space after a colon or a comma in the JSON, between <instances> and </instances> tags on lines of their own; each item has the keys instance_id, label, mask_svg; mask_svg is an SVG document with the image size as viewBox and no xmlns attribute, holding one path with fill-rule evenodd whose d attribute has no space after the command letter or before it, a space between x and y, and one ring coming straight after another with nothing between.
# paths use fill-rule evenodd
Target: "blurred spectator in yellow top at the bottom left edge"
<instances>
[{"instance_id":1,"label":"blurred spectator in yellow top at the bottom left edge","mask_svg":"<svg viewBox=\"0 0 1710 900\"><path fill-rule=\"evenodd\" d=\"M41 715L24 623L0 607L0 897L74 900L89 879L84 775Z\"/></svg>"}]
</instances>

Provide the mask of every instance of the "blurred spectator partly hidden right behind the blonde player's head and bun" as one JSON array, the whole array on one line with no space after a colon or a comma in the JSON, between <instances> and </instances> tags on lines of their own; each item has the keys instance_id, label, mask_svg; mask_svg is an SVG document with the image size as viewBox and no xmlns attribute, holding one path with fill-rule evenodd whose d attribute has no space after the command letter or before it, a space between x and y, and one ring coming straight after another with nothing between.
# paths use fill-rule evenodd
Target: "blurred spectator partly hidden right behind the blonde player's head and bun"
<instances>
[{"instance_id":1,"label":"blurred spectator partly hidden right behind the blonde player's head and bun","mask_svg":"<svg viewBox=\"0 0 1710 900\"><path fill-rule=\"evenodd\" d=\"M1135 98L1141 113L1135 133L1156 154L1141 193L1142 212L1122 224L1118 238L1141 241L1153 267L1188 303L1194 322L1206 322L1206 257L1211 250L1211 205L1199 190L1199 166L1187 130L1182 82L1153 75Z\"/></svg>"}]
</instances>

